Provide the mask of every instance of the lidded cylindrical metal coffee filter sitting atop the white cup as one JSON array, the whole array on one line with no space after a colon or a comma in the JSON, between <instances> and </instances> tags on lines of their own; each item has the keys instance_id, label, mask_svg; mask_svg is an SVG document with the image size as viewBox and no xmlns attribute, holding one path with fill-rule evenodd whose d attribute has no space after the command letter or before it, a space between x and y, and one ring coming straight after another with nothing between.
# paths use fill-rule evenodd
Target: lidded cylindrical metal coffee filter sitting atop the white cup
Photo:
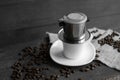
<instances>
[{"instance_id":1,"label":"lidded cylindrical metal coffee filter sitting atop the white cup","mask_svg":"<svg viewBox=\"0 0 120 80\"><path fill-rule=\"evenodd\" d=\"M67 16L64 16L60 19L60 26L63 27L62 33L58 33L60 35L59 38L62 41L68 43L82 43L85 39L86 34L86 26L85 23L87 21L87 16L83 13L70 13Z\"/></svg>"}]
</instances>

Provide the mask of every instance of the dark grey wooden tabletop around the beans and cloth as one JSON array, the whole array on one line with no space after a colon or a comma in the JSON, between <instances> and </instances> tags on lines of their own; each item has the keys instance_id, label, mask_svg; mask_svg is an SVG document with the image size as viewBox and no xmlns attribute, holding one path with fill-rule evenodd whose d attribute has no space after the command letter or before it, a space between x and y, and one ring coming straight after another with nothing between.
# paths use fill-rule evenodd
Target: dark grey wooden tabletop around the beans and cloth
<instances>
[{"instance_id":1,"label":"dark grey wooden tabletop around the beans and cloth","mask_svg":"<svg viewBox=\"0 0 120 80\"><path fill-rule=\"evenodd\" d=\"M85 13L90 19L87 28L120 32L120 0L0 0L0 79L10 80L17 53L25 46L38 45L46 31L58 32L57 20L70 12ZM120 74L107 66L100 70L103 73L84 77L96 80L95 76Z\"/></svg>"}]
</instances>

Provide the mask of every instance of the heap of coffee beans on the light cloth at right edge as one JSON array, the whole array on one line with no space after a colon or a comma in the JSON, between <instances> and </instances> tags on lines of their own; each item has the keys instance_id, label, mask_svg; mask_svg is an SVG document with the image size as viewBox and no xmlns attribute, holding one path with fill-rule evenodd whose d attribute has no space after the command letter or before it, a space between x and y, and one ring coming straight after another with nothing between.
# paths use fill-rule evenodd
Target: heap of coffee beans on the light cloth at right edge
<instances>
[{"instance_id":1,"label":"heap of coffee beans on the light cloth at right edge","mask_svg":"<svg viewBox=\"0 0 120 80\"><path fill-rule=\"evenodd\" d=\"M98 43L102 46L104 44L108 44L113 46L114 49L117 49L120 52L120 40L114 40L114 36L119 36L117 33L113 32L111 35L107 35L105 38L98 40Z\"/></svg>"}]
</instances>

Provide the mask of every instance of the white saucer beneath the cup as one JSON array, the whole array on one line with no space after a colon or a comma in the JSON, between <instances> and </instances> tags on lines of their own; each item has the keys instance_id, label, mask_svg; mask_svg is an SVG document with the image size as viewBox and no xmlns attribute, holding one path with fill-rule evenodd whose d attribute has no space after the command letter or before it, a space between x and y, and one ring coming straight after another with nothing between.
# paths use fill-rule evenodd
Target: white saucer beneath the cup
<instances>
[{"instance_id":1,"label":"white saucer beneath the cup","mask_svg":"<svg viewBox=\"0 0 120 80\"><path fill-rule=\"evenodd\" d=\"M87 45L88 54L84 58L80 59L68 59L63 55L63 42L61 40L57 40L50 49L50 57L53 61L58 64L66 65L66 66L82 66L92 62L95 58L96 51L95 47L92 43Z\"/></svg>"}]
</instances>

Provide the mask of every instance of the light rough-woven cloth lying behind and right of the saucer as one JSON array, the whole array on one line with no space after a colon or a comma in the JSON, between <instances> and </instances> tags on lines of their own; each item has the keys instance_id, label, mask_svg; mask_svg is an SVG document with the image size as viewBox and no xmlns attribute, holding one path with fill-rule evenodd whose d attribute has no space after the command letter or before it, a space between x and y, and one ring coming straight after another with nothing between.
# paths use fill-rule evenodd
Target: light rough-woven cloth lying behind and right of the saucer
<instances>
[{"instance_id":1,"label":"light rough-woven cloth lying behind and right of the saucer","mask_svg":"<svg viewBox=\"0 0 120 80\"><path fill-rule=\"evenodd\" d=\"M120 52L118 52L118 49L114 48L113 45L110 45L107 42L103 45L99 43L104 38L108 37L108 35L110 36L113 33L114 36L112 37L112 39L114 40L114 42L120 41L120 33L111 29L103 30L96 27L90 28L88 29L88 31L92 33L93 39L91 42L98 51L97 55L99 57L96 60L101 61L111 68L120 70ZM46 34L49 36L50 43L54 43L56 40L59 39L56 33L46 32ZM112 41L111 44L114 44L114 42Z\"/></svg>"}]
</instances>

